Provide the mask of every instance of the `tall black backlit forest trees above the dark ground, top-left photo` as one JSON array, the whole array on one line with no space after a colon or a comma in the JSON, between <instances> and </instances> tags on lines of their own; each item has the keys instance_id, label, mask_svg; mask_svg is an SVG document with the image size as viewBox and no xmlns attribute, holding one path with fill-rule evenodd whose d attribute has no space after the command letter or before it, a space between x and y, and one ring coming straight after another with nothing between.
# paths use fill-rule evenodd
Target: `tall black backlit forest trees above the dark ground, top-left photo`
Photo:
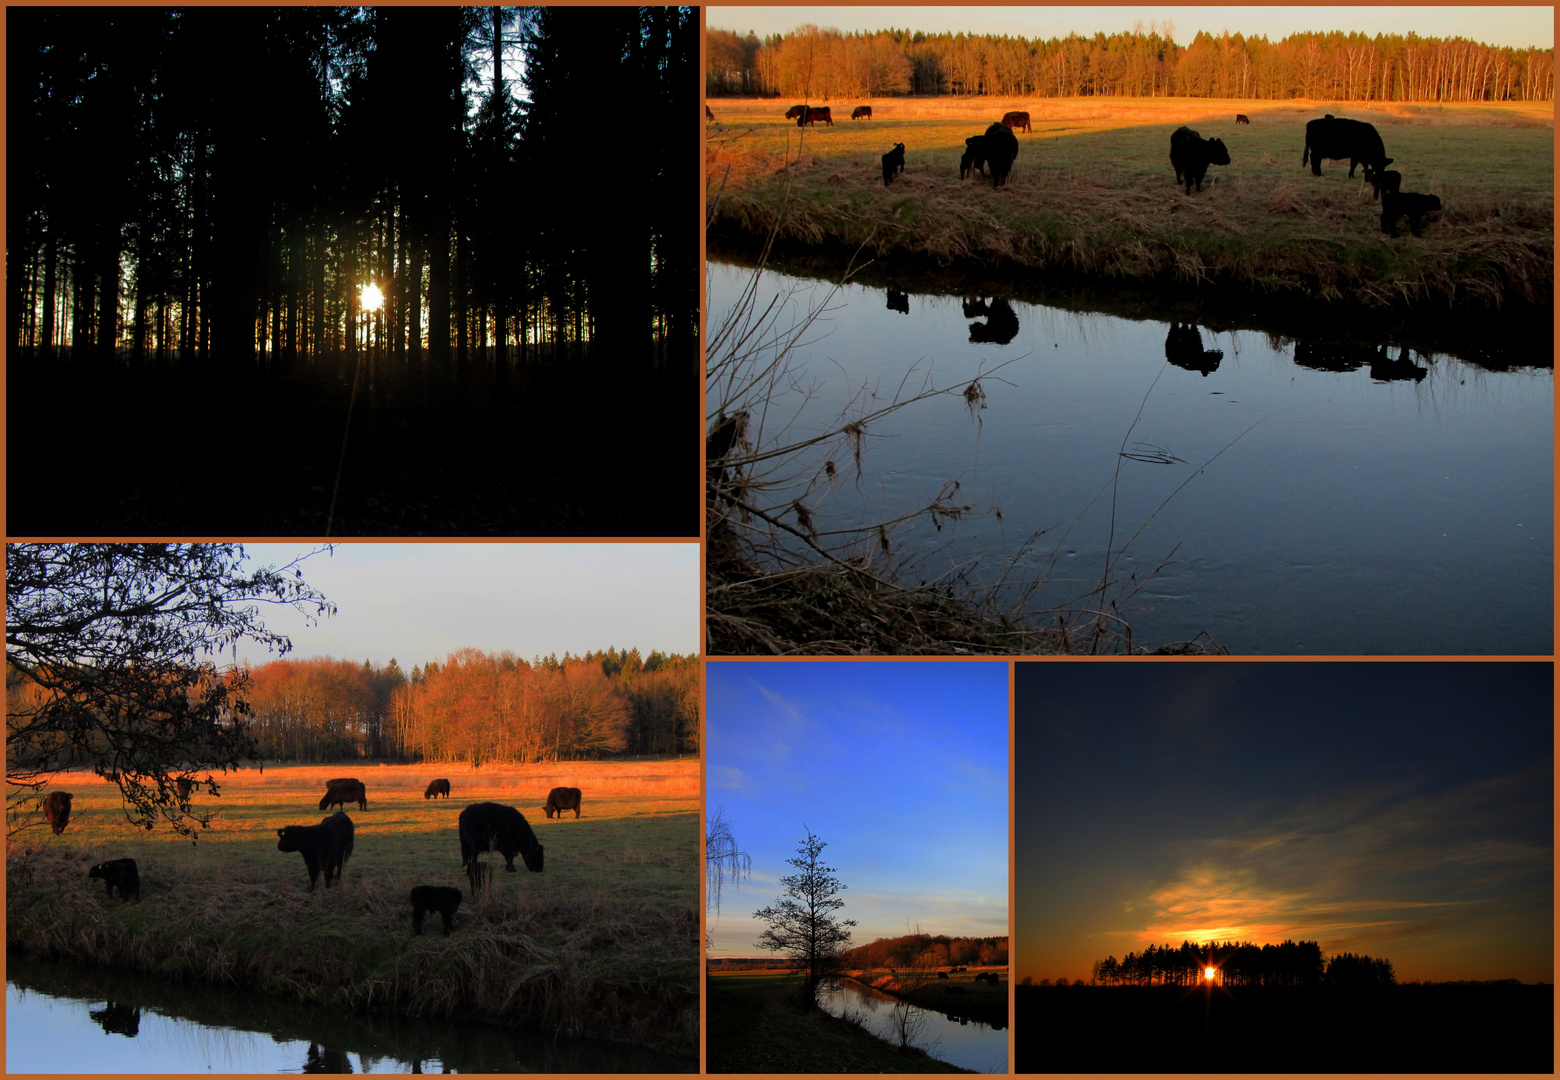
<instances>
[{"instance_id":1,"label":"tall black backlit forest trees above the dark ground, top-left photo","mask_svg":"<svg viewBox=\"0 0 1560 1080\"><path fill-rule=\"evenodd\" d=\"M693 8L8 8L11 346L691 365L697 161L657 117L693 115L697 25ZM505 44L518 86L488 75Z\"/></svg>"}]
</instances>

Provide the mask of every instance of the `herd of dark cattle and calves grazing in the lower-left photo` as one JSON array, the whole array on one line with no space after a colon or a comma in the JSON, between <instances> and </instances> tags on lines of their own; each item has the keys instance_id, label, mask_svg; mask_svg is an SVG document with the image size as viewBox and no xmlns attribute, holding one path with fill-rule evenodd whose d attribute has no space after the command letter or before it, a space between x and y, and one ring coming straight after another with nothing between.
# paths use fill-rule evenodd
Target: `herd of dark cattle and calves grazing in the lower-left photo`
<instances>
[{"instance_id":1,"label":"herd of dark cattle and calves grazing in the lower-left photo","mask_svg":"<svg viewBox=\"0 0 1560 1080\"><path fill-rule=\"evenodd\" d=\"M184 782L179 783L179 796L189 798ZM424 799L449 798L449 780L431 780L423 791ZM44 796L44 819L58 837L70 824L69 791L50 791ZM356 777L335 777L324 782L324 794L320 798L320 808L332 805L345 807L356 802L359 810L368 808L368 790ZM541 807L551 819L555 813L563 819L565 810L573 810L576 819L580 816L579 788L552 788L548 801ZM337 810L317 826L284 826L276 830L276 851L298 852L303 855L304 869L309 872L309 891L315 890L320 876L324 874L324 886L331 888L342 879L346 860L353 855L354 841L353 819L345 810ZM491 868L477 857L485 852L498 852L504 857L504 869L515 871L515 855L519 855L526 869L540 874L543 865L543 849L537 841L526 816L515 807L499 802L474 802L460 812L460 865L466 871L471 883L471 896L485 888L493 880ZM108 885L112 899L117 888L122 901L131 896L140 901L140 871L134 858L111 858L87 871L87 880L101 880ZM460 907L460 890L438 885L418 885L412 890L412 932L423 933L423 916L437 911L445 922L445 936L454 929L454 915Z\"/></svg>"}]
</instances>

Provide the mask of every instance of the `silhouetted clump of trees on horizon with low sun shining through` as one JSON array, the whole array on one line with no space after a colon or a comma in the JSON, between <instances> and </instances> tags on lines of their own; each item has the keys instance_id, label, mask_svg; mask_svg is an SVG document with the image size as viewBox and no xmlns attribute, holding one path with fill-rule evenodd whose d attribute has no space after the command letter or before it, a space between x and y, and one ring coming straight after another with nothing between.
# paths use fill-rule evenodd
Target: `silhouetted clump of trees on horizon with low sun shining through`
<instances>
[{"instance_id":1,"label":"silhouetted clump of trees on horizon with low sun shining through","mask_svg":"<svg viewBox=\"0 0 1560 1080\"><path fill-rule=\"evenodd\" d=\"M1390 960L1343 952L1323 961L1317 941L1284 941L1256 946L1250 941L1176 946L1150 944L1097 960L1092 983L1097 986L1195 986L1204 971L1215 969L1221 986L1390 986L1396 975ZM1061 985L1061 983L1058 983Z\"/></svg>"}]
</instances>

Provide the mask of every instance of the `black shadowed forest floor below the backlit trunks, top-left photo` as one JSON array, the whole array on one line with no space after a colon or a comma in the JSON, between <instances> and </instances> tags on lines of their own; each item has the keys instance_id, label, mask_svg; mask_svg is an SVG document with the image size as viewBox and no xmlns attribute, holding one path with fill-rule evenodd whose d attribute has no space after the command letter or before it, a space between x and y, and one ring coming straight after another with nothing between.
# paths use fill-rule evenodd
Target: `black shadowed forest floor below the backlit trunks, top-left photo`
<instances>
[{"instance_id":1,"label":"black shadowed forest floor below the backlit trunks, top-left photo","mask_svg":"<svg viewBox=\"0 0 1560 1080\"><path fill-rule=\"evenodd\" d=\"M239 376L12 359L8 395L9 535L699 532L691 375L381 375L354 393L326 364Z\"/></svg>"}]
</instances>

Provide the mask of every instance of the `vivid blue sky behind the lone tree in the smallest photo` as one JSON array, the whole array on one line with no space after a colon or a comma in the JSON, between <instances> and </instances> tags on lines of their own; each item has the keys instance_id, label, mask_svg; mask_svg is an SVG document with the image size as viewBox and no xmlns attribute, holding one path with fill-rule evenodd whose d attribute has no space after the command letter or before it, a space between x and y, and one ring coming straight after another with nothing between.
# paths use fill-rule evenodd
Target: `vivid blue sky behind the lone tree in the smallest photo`
<instances>
[{"instance_id":1,"label":"vivid blue sky behind the lone tree in the smallest photo","mask_svg":"<svg viewBox=\"0 0 1560 1080\"><path fill-rule=\"evenodd\" d=\"M708 813L753 876L711 913L713 957L763 955L752 913L811 829L853 943L1008 933L1008 665L772 662L705 668Z\"/></svg>"}]
</instances>

